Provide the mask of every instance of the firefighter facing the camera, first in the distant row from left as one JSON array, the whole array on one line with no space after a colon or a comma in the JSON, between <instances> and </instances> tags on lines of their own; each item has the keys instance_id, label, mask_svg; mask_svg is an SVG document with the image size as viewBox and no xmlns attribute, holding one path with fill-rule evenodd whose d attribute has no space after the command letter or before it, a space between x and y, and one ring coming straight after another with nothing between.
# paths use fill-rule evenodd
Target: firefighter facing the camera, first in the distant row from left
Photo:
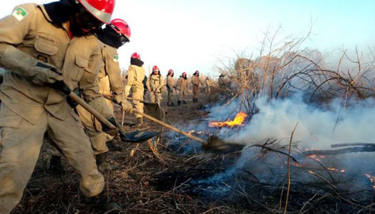
<instances>
[{"instance_id":1,"label":"firefighter facing the camera, first in the distant row from left","mask_svg":"<svg viewBox=\"0 0 375 214\"><path fill-rule=\"evenodd\" d=\"M147 79L147 88L150 91L150 102L156 102L159 106L161 106L162 101L163 82L163 76L155 65L152 67L152 73Z\"/></svg>"}]
</instances>

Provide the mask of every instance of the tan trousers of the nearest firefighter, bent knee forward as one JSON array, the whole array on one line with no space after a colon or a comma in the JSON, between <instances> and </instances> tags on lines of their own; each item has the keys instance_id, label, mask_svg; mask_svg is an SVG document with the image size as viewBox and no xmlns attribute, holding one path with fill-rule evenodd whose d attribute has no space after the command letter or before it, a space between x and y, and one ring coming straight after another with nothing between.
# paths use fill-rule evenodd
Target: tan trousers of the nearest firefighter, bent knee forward
<instances>
[{"instance_id":1,"label":"tan trousers of the nearest firefighter, bent knee forward","mask_svg":"<svg viewBox=\"0 0 375 214\"><path fill-rule=\"evenodd\" d=\"M22 198L46 131L79 174L82 194L91 197L103 190L104 178L97 170L90 140L73 110L63 121L44 111L31 124L1 104L0 214L9 214Z\"/></svg>"}]
</instances>

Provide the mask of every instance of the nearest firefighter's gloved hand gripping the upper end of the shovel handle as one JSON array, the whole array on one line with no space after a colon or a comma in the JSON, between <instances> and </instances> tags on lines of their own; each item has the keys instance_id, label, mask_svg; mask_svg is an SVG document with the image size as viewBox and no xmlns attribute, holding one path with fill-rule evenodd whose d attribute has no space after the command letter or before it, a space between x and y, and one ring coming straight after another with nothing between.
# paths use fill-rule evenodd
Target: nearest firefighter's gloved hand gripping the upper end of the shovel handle
<instances>
[{"instance_id":1,"label":"nearest firefighter's gloved hand gripping the upper end of the shovel handle","mask_svg":"<svg viewBox=\"0 0 375 214\"><path fill-rule=\"evenodd\" d=\"M52 65L38 62L34 67L35 75L31 77L31 81L38 84L44 85L55 83L56 81L62 81L62 72L53 67Z\"/></svg>"}]
</instances>

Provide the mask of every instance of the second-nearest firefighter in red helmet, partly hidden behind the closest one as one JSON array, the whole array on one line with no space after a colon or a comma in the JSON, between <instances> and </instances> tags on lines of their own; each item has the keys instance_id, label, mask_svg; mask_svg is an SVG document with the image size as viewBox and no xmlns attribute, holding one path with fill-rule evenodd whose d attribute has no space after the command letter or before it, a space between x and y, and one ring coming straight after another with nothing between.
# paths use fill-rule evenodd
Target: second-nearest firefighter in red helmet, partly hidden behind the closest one
<instances>
[{"instance_id":1,"label":"second-nearest firefighter in red helmet, partly hidden behind the closest one","mask_svg":"<svg viewBox=\"0 0 375 214\"><path fill-rule=\"evenodd\" d=\"M129 25L122 19L113 19L104 29L95 32L100 41L101 47L101 65L97 84L99 93L111 96L113 94L117 103L121 103L125 99L124 85L121 78L121 70L118 64L117 49L129 42L131 32ZM113 113L112 101L105 100L108 107ZM112 136L102 131L102 126L94 116L81 106L75 107L86 133L90 137L96 164L101 165L106 162L106 153L109 151L106 144L112 140ZM51 149L52 158L48 164L48 171L60 171L61 160L60 154L56 149Z\"/></svg>"}]
</instances>

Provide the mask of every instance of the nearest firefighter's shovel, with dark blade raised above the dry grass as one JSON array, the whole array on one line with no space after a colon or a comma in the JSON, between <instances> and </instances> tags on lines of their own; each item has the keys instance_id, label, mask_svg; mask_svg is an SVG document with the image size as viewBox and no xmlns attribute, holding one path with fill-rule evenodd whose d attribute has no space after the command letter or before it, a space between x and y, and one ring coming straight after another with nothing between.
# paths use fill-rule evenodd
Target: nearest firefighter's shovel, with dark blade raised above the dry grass
<instances>
[{"instance_id":1,"label":"nearest firefighter's shovel, with dark blade raised above the dry grass","mask_svg":"<svg viewBox=\"0 0 375 214\"><path fill-rule=\"evenodd\" d=\"M101 115L99 112L97 112L93 107L89 106L83 99L81 99L79 96L77 96L74 92L71 92L68 95L72 100L77 102L80 106L85 108L87 111L89 111L92 115L94 115L95 118L97 118L100 123L115 129L116 126L114 126L111 122L109 122L103 115ZM142 143L145 141L150 140L151 138L159 135L160 132L153 132L153 131L135 131L128 134L125 134L124 132L120 132L120 138L121 142L128 142L128 143Z\"/></svg>"}]
</instances>

